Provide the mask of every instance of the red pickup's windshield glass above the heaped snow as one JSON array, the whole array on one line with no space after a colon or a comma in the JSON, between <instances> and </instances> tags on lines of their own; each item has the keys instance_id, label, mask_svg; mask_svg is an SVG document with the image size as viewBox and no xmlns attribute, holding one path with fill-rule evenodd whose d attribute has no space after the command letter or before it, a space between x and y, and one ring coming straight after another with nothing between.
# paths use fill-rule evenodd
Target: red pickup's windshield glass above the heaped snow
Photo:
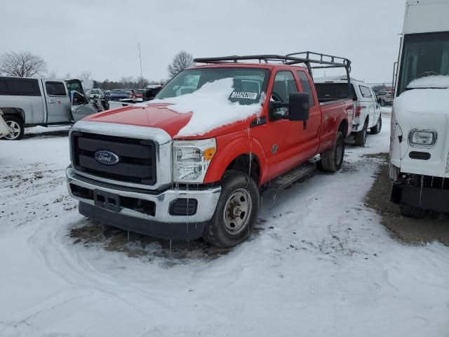
<instances>
[{"instance_id":1,"label":"red pickup's windshield glass above the heaped snow","mask_svg":"<svg viewBox=\"0 0 449 337\"><path fill-rule=\"evenodd\" d=\"M185 70L177 74L161 91L156 99L173 98L194 93L201 86L218 79L232 79L234 91L229 96L231 102L243 105L257 103L266 92L269 70L258 68L200 68Z\"/></svg>"}]
</instances>

